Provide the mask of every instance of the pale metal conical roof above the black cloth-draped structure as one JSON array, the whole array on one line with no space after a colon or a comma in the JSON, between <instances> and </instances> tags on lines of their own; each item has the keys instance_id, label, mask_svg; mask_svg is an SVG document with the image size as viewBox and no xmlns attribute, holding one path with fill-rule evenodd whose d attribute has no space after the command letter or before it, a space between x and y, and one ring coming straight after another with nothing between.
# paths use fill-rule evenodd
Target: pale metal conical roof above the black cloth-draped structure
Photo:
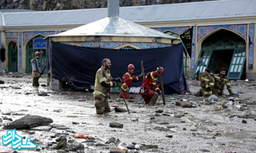
<instances>
[{"instance_id":1,"label":"pale metal conical roof above the black cloth-draped structure","mask_svg":"<svg viewBox=\"0 0 256 153\"><path fill-rule=\"evenodd\" d=\"M162 37L169 39L176 38L165 33L141 26L140 24L124 20L119 17L106 17L56 35L49 35L49 37L61 36Z\"/></svg>"}]
</instances>

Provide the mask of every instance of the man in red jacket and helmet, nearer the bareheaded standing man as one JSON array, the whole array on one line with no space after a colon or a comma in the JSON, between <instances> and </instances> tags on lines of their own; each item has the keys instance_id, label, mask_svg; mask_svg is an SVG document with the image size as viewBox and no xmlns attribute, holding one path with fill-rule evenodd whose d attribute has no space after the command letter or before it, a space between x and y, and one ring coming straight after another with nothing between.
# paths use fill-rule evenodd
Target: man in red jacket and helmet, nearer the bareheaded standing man
<instances>
[{"instance_id":1,"label":"man in red jacket and helmet, nearer the bareheaded standing man","mask_svg":"<svg viewBox=\"0 0 256 153\"><path fill-rule=\"evenodd\" d=\"M120 91L120 92L123 92L125 99L129 98L129 91L130 91L132 82L138 81L142 77L142 73L137 77L134 77L132 75L132 73L134 71L134 66L132 64L129 64L127 69L128 69L128 72L126 72L123 76L123 84L122 84L121 91ZM119 97L123 98L121 93L119 94Z\"/></svg>"}]
</instances>

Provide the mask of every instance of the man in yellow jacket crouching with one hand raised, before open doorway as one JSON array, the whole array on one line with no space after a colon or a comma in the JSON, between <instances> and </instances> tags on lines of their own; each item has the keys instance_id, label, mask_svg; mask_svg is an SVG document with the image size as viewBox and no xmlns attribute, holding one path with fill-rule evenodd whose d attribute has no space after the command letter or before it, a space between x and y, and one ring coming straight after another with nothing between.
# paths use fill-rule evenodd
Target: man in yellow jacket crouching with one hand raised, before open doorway
<instances>
[{"instance_id":1,"label":"man in yellow jacket crouching with one hand raised, before open doorway","mask_svg":"<svg viewBox=\"0 0 256 153\"><path fill-rule=\"evenodd\" d=\"M214 79L210 76L210 69L205 69L203 75L200 75L200 70L198 70L196 79L200 81L201 89L194 95L197 97L212 95Z\"/></svg>"}]
</instances>

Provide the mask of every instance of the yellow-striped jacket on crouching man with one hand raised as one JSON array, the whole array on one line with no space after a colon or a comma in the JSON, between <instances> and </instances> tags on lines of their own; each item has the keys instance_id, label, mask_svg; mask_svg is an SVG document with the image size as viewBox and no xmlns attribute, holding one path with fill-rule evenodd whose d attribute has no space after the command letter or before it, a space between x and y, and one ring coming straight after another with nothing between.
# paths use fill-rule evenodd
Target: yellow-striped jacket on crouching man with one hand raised
<instances>
[{"instance_id":1,"label":"yellow-striped jacket on crouching man with one hand raised","mask_svg":"<svg viewBox=\"0 0 256 153\"><path fill-rule=\"evenodd\" d=\"M204 96L212 95L214 79L210 75L198 75L196 79L200 80L200 86Z\"/></svg>"}]
</instances>

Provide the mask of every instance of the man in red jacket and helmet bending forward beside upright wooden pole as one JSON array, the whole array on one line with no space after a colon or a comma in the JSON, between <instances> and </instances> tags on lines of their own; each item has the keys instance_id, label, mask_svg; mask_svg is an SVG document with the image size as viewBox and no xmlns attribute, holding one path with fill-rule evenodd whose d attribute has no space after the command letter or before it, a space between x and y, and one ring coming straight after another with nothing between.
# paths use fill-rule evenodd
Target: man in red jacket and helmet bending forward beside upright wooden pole
<instances>
[{"instance_id":1,"label":"man in red jacket and helmet bending forward beside upright wooden pole","mask_svg":"<svg viewBox=\"0 0 256 153\"><path fill-rule=\"evenodd\" d=\"M145 104L155 105L158 98L158 94L162 94L161 90L157 87L158 72L164 73L162 67L157 68L154 72L149 72L145 76L145 80L140 89L140 94L145 100Z\"/></svg>"}]
</instances>

